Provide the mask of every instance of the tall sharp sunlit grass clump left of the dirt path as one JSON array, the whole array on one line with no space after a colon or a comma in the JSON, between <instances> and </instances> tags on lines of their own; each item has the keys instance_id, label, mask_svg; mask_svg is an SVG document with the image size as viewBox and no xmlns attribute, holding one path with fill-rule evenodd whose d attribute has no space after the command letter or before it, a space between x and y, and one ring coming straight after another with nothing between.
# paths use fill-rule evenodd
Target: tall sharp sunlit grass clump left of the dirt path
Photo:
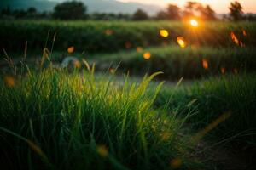
<instances>
[{"instance_id":1,"label":"tall sharp sunlit grass clump left of the dirt path","mask_svg":"<svg viewBox=\"0 0 256 170\"><path fill-rule=\"evenodd\" d=\"M19 169L172 169L189 158L183 119L154 110L160 90L114 77L44 70L0 82L1 164ZM12 80L12 79L11 79ZM190 151L189 151L190 150Z\"/></svg>"}]
</instances>

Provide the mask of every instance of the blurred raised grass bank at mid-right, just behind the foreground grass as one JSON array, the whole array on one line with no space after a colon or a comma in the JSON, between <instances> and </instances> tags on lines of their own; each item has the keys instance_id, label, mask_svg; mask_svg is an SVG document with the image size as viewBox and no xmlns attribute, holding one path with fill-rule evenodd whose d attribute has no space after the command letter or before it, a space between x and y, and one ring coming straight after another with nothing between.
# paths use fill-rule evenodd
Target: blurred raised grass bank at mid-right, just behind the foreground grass
<instances>
[{"instance_id":1,"label":"blurred raised grass bank at mid-right, just behind the foreground grass","mask_svg":"<svg viewBox=\"0 0 256 170\"><path fill-rule=\"evenodd\" d=\"M149 52L150 59L143 59ZM119 65L120 72L129 71L131 75L144 75L146 72L163 71L162 78L185 79L209 77L226 73L255 71L254 48L145 48L142 52L130 51L117 54L96 54L88 56L97 67L107 70L110 65ZM79 55L78 55L79 56ZM206 60L208 68L202 66ZM222 72L224 70L224 72Z\"/></svg>"}]
</instances>

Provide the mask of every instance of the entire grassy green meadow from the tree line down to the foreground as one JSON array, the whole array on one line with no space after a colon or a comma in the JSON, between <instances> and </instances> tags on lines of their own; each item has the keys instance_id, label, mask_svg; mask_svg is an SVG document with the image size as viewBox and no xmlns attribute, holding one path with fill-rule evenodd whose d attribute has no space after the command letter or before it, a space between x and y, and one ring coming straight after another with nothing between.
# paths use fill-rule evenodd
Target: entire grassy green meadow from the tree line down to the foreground
<instances>
[{"instance_id":1,"label":"entire grassy green meadow from the tree line down to the foreground","mask_svg":"<svg viewBox=\"0 0 256 170\"><path fill-rule=\"evenodd\" d=\"M255 23L0 24L3 169L255 167Z\"/></svg>"}]
</instances>

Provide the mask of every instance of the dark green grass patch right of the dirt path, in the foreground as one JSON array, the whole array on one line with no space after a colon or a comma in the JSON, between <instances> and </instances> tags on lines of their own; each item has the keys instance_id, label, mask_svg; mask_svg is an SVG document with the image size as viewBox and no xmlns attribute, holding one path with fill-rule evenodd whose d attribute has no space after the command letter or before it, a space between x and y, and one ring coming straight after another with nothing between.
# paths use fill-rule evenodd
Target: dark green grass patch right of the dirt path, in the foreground
<instances>
[{"instance_id":1,"label":"dark green grass patch right of the dirt path, in the foreground","mask_svg":"<svg viewBox=\"0 0 256 170\"><path fill-rule=\"evenodd\" d=\"M178 111L184 116L194 112L188 121L196 130L207 127L219 116L231 113L225 122L209 133L209 137L253 149L256 146L255 85L254 74L211 77L192 86L163 88L155 105L169 101L170 111Z\"/></svg>"}]
</instances>

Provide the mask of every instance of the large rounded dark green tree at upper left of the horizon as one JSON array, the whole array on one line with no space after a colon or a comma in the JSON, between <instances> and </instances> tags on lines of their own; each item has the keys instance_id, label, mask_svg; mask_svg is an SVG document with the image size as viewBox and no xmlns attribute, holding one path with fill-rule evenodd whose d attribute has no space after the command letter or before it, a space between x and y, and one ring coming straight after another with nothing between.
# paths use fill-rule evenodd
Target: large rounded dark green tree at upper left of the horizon
<instances>
[{"instance_id":1,"label":"large rounded dark green tree at upper left of the horizon","mask_svg":"<svg viewBox=\"0 0 256 170\"><path fill-rule=\"evenodd\" d=\"M84 3L72 1L64 2L55 6L53 17L60 20L84 19L86 13Z\"/></svg>"}]
</instances>

